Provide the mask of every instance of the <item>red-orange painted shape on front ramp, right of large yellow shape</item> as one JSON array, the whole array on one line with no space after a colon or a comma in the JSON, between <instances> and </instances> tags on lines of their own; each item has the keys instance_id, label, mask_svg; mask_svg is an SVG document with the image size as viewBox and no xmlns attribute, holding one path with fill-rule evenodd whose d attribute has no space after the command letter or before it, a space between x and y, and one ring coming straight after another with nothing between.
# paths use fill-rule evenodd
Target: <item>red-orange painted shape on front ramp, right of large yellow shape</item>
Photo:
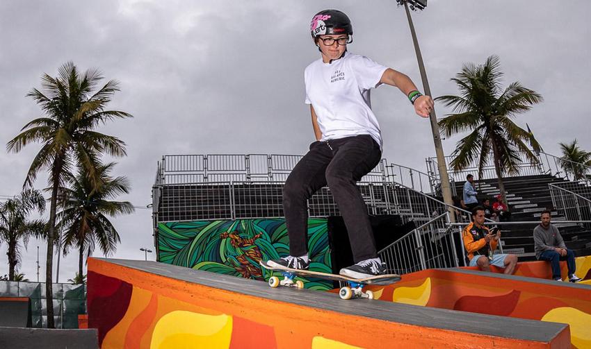
<instances>
[{"instance_id":1,"label":"red-orange painted shape on front ramp, right of large yellow shape","mask_svg":"<svg viewBox=\"0 0 591 349\"><path fill-rule=\"evenodd\" d=\"M255 323L234 316L232 318L232 341L229 349L272 349L277 348L275 330L269 325Z\"/></svg>"}]
</instances>

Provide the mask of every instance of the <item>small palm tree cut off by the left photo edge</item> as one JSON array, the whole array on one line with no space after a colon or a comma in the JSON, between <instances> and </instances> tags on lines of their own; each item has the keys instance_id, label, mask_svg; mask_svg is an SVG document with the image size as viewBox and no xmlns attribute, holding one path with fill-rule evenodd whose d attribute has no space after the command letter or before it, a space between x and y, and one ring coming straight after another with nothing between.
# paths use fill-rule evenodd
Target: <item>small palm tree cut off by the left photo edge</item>
<instances>
[{"instance_id":1,"label":"small palm tree cut off by the left photo edge","mask_svg":"<svg viewBox=\"0 0 591 349\"><path fill-rule=\"evenodd\" d=\"M45 238L46 223L29 219L29 214L45 210L45 199L40 191L27 189L0 205L0 242L8 244L8 280L15 281L15 269L20 264L21 241L26 248L30 237Z\"/></svg>"}]
</instances>

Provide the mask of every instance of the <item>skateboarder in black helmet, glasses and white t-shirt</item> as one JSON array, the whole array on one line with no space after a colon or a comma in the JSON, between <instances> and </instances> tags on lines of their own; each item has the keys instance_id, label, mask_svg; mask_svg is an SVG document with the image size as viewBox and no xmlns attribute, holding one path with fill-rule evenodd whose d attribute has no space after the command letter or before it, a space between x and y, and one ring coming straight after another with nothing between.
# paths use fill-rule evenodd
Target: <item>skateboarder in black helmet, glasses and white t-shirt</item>
<instances>
[{"instance_id":1,"label":"skateboarder in black helmet, glasses and white t-shirt","mask_svg":"<svg viewBox=\"0 0 591 349\"><path fill-rule=\"evenodd\" d=\"M338 10L318 12L310 33L321 58L305 69L306 99L310 105L316 142L295 165L283 189L283 208L289 232L287 257L269 266L307 269L307 199L325 185L345 221L355 264L341 269L349 278L367 278L386 272L375 248L364 199L356 182L369 173L382 156L378 119L371 110L369 92L382 84L398 87L428 117L433 108L405 74L347 51L353 26Z\"/></svg>"}]
</instances>

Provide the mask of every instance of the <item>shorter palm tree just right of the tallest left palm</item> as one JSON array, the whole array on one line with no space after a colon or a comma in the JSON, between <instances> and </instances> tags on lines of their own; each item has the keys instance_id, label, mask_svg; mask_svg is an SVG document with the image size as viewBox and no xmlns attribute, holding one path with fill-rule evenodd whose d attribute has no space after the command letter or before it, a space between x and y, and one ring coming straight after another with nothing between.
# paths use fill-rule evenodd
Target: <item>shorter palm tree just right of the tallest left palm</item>
<instances>
[{"instance_id":1,"label":"shorter palm tree just right of the tallest left palm","mask_svg":"<svg viewBox=\"0 0 591 349\"><path fill-rule=\"evenodd\" d=\"M92 255L95 244L105 255L117 249L119 233L109 221L108 216L130 214L134 211L129 201L111 201L119 194L129 193L129 182L125 177L113 178L109 175L114 162L100 165L96 169L99 187L85 176L81 169L77 176L68 175L69 187L60 188L60 196L65 198L58 213L64 255L76 246L79 250L78 273L83 275L83 255Z\"/></svg>"}]
</instances>

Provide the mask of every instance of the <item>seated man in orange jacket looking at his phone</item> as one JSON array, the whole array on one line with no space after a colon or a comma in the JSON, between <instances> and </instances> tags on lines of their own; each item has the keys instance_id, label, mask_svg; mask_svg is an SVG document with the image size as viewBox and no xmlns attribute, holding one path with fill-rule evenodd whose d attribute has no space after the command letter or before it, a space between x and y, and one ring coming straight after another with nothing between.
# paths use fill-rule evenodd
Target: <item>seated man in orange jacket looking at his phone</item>
<instances>
[{"instance_id":1,"label":"seated man in orange jacket looking at his phone","mask_svg":"<svg viewBox=\"0 0 591 349\"><path fill-rule=\"evenodd\" d=\"M474 207L472 210L472 223L462 232L464 249L470 260L469 266L478 266L482 271L490 271L490 265L505 269L505 274L515 272L517 256L508 254L494 254L499 246L501 232L498 228L485 227L485 210L482 206Z\"/></svg>"}]
</instances>

